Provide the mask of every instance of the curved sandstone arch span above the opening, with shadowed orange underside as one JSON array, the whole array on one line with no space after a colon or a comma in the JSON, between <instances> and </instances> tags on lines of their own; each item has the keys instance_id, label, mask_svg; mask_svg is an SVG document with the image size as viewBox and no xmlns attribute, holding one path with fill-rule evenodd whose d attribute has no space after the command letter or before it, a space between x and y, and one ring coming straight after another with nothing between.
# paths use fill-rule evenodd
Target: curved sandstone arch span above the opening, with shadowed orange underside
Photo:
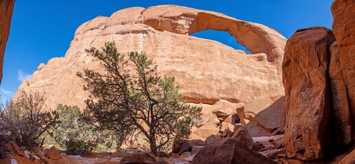
<instances>
[{"instance_id":1,"label":"curved sandstone arch span above the opening, with shadowed orange underside","mask_svg":"<svg viewBox=\"0 0 355 164\"><path fill-rule=\"evenodd\" d=\"M208 29L227 31L251 53L265 53L270 62L282 61L286 38L258 23L174 5L159 5L142 12L143 22L154 29L192 34Z\"/></svg>"}]
</instances>

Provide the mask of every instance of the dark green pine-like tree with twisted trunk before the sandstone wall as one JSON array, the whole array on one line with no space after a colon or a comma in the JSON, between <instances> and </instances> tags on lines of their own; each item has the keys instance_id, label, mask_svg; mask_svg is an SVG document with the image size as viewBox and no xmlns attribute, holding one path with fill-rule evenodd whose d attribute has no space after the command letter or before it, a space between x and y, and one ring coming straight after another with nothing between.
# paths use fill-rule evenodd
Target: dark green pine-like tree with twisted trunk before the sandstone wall
<instances>
[{"instance_id":1,"label":"dark green pine-like tree with twisted trunk before the sandstone wall","mask_svg":"<svg viewBox=\"0 0 355 164\"><path fill-rule=\"evenodd\" d=\"M78 72L87 82L84 90L92 95L86 103L94 122L115 129L120 139L135 139L134 135L143 133L156 156L175 139L190 136L201 108L180 102L174 77L159 77L157 66L152 66L145 53L132 52L125 57L117 53L115 42L106 42L102 52L95 48L86 51L99 59L105 70Z\"/></svg>"}]
</instances>

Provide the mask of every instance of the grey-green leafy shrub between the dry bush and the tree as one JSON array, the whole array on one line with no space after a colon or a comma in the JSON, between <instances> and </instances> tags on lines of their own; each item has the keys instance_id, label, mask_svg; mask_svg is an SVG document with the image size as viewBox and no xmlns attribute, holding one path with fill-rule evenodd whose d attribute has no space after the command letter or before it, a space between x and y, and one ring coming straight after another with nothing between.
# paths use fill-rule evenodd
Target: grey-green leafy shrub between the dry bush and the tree
<instances>
[{"instance_id":1,"label":"grey-green leafy shrub between the dry bush and the tree","mask_svg":"<svg viewBox=\"0 0 355 164\"><path fill-rule=\"evenodd\" d=\"M115 146L109 131L98 131L98 128L84 120L79 107L58 105L60 124L52 128L48 144L56 144L65 149L67 154L84 154L93 150L105 152Z\"/></svg>"}]
</instances>

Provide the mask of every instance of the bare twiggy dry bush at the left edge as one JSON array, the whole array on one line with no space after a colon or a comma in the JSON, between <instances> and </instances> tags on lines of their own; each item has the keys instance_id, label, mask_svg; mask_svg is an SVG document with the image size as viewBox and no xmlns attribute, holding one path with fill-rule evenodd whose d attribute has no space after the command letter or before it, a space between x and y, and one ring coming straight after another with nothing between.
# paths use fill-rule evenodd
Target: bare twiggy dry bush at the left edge
<instances>
[{"instance_id":1,"label":"bare twiggy dry bush at the left edge","mask_svg":"<svg viewBox=\"0 0 355 164\"><path fill-rule=\"evenodd\" d=\"M27 94L21 91L19 98L4 105L0 111L0 150L4 144L16 142L25 148L43 145L43 134L57 123L56 111L47 111L44 94ZM1 153L1 152L0 152ZM1 155L2 154L2 155ZM4 153L1 153L3 156Z\"/></svg>"}]
</instances>

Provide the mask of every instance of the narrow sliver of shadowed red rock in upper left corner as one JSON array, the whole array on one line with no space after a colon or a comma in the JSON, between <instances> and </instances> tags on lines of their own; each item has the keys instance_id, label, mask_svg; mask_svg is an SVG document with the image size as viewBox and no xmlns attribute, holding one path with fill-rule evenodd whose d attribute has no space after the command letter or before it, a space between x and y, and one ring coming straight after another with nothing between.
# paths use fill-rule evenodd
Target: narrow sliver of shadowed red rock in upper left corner
<instances>
[{"instance_id":1,"label":"narrow sliver of shadowed red rock in upper left corner","mask_svg":"<svg viewBox=\"0 0 355 164\"><path fill-rule=\"evenodd\" d=\"M3 54L10 34L12 12L14 11L15 0L0 1L0 83L3 77Z\"/></svg>"}]
</instances>

